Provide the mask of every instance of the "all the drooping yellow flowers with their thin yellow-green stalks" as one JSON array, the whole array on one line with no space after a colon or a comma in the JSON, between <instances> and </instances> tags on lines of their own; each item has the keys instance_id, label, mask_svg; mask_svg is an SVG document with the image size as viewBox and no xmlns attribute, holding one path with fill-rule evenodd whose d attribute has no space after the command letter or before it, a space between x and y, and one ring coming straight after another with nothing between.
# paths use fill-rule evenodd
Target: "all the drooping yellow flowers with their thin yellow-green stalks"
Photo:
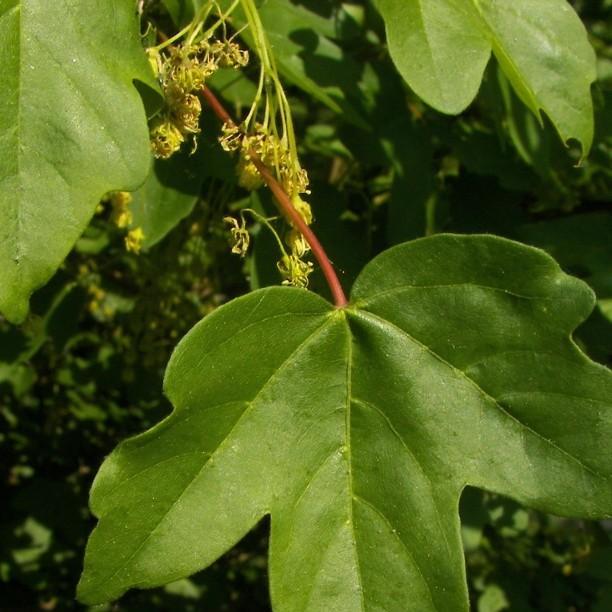
<instances>
[{"instance_id":1,"label":"all the drooping yellow flowers with their thin yellow-green stalks","mask_svg":"<svg viewBox=\"0 0 612 612\"><path fill-rule=\"evenodd\" d=\"M312 223L312 211L310 205L301 197L310 193L308 175L298 160L289 103L252 0L235 0L227 14L222 14L216 2L211 0L202 5L199 17L184 30L157 47L148 49L151 65L165 99L164 107L150 126L151 149L155 157L168 159L186 140L191 139L192 151L195 151L202 112L198 94L207 79L219 68L241 69L248 64L248 51L234 42L233 37L227 38L226 22L238 3L243 5L248 26L253 30L255 49L261 60L260 78L257 94L244 123L240 126L226 123L222 129L220 143L223 149L238 156L236 169L240 186L254 190L263 185L263 178L254 160L262 163L276 175L298 214L309 225ZM215 8L218 18L202 34L204 22L212 16ZM218 29L222 31L219 38L215 37ZM259 123L257 117L260 104L264 102L264 118L263 122ZM277 125L278 118L280 130ZM244 257L250 242L244 216L240 215L240 222L232 217L226 217L225 220L230 224L232 252ZM283 284L306 287L308 276L313 270L313 264L304 260L310 251L308 243L291 221L284 244L270 223L263 221L275 233L281 249L277 267L283 277ZM126 225L130 222L131 218ZM141 243L141 236L130 232L126 238L128 249L137 251L139 240Z\"/></svg>"}]
</instances>

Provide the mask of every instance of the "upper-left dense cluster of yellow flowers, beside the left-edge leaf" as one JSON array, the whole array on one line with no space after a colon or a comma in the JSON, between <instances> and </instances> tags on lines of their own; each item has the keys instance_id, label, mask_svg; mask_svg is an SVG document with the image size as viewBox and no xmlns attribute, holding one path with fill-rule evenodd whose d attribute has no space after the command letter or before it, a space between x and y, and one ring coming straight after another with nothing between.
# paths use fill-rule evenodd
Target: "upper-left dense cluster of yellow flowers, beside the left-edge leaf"
<instances>
[{"instance_id":1,"label":"upper-left dense cluster of yellow flowers, beside the left-edge leaf","mask_svg":"<svg viewBox=\"0 0 612 612\"><path fill-rule=\"evenodd\" d=\"M151 49L149 58L166 100L164 110L151 124L151 149L155 157L167 159L186 138L194 138L195 146L202 112L196 94L206 79L219 68L246 66L249 54L235 42L216 40L170 47L166 54Z\"/></svg>"}]
</instances>

